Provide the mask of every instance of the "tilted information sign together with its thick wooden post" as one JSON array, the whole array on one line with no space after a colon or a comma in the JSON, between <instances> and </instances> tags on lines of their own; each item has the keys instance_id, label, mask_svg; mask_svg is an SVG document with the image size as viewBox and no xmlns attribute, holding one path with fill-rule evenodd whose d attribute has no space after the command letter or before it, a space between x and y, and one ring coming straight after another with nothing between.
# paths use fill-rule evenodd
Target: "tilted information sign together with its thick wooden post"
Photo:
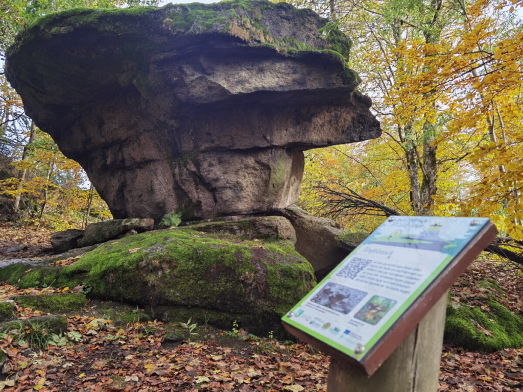
<instances>
[{"instance_id":1,"label":"tilted information sign together with its thick wooden post","mask_svg":"<svg viewBox=\"0 0 523 392\"><path fill-rule=\"evenodd\" d=\"M447 290L496 234L487 218L391 216L283 326L332 356L328 392L433 392Z\"/></svg>"}]
</instances>

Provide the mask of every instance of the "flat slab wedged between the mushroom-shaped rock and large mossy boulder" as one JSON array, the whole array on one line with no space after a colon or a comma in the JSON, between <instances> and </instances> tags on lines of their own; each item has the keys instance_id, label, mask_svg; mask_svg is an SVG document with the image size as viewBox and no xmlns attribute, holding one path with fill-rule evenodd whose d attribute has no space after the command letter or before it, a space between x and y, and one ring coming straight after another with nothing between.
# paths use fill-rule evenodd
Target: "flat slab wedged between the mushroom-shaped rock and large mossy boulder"
<instances>
[{"instance_id":1,"label":"flat slab wedged between the mushroom-shaped rock and large mossy boulder","mask_svg":"<svg viewBox=\"0 0 523 392\"><path fill-rule=\"evenodd\" d=\"M283 216L256 216L252 218L227 217L231 220L192 223L187 228L204 233L224 233L247 239L285 239L296 243L296 232L287 218ZM236 218L236 219L234 219Z\"/></svg>"}]
</instances>

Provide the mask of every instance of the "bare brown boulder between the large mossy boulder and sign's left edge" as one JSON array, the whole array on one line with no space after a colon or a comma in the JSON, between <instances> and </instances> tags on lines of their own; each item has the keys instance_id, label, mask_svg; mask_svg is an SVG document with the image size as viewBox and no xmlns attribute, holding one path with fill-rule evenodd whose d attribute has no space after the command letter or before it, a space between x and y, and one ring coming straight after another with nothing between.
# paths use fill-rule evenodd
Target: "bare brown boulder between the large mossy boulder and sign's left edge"
<instances>
[{"instance_id":1,"label":"bare brown boulder between the large mossy boulder and sign's left edge","mask_svg":"<svg viewBox=\"0 0 523 392\"><path fill-rule=\"evenodd\" d=\"M323 279L349 252L340 247L336 237L345 232L327 218L312 216L297 205L277 212L296 230L296 250L312 264L316 279Z\"/></svg>"}]
</instances>

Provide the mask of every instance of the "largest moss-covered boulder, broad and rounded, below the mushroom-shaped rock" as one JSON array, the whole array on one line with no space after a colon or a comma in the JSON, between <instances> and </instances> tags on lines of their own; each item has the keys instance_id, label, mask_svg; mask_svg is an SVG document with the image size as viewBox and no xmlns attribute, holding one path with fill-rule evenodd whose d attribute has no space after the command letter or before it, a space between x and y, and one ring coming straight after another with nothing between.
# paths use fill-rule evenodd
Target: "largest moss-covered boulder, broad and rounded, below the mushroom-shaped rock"
<instances>
[{"instance_id":1,"label":"largest moss-covered boulder, broad and rounded, below the mushroom-shaped rock","mask_svg":"<svg viewBox=\"0 0 523 392\"><path fill-rule=\"evenodd\" d=\"M245 320L254 333L278 329L280 317L316 283L311 264L289 241L189 228L110 241L63 268L10 266L10 281L41 285L42 270L53 274L54 285L86 285L89 295L138 304L156 317L169 309L177 321L198 315L198 322L230 327Z\"/></svg>"}]
</instances>

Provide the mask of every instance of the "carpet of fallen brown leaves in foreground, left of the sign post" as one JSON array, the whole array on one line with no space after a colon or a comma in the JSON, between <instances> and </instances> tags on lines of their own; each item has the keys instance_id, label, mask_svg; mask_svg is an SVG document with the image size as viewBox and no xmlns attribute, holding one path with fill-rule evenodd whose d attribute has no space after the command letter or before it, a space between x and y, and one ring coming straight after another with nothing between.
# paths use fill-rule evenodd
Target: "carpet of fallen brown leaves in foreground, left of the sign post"
<instances>
[{"instance_id":1,"label":"carpet of fallen brown leaves in foreground, left of the sign post","mask_svg":"<svg viewBox=\"0 0 523 392\"><path fill-rule=\"evenodd\" d=\"M274 352L233 350L213 341L162 347L162 323L113 326L110 320L69 317L62 347L32 350L8 335L4 391L322 391L328 359L301 344L275 342ZM75 335L71 335L75 332Z\"/></svg>"}]
</instances>

